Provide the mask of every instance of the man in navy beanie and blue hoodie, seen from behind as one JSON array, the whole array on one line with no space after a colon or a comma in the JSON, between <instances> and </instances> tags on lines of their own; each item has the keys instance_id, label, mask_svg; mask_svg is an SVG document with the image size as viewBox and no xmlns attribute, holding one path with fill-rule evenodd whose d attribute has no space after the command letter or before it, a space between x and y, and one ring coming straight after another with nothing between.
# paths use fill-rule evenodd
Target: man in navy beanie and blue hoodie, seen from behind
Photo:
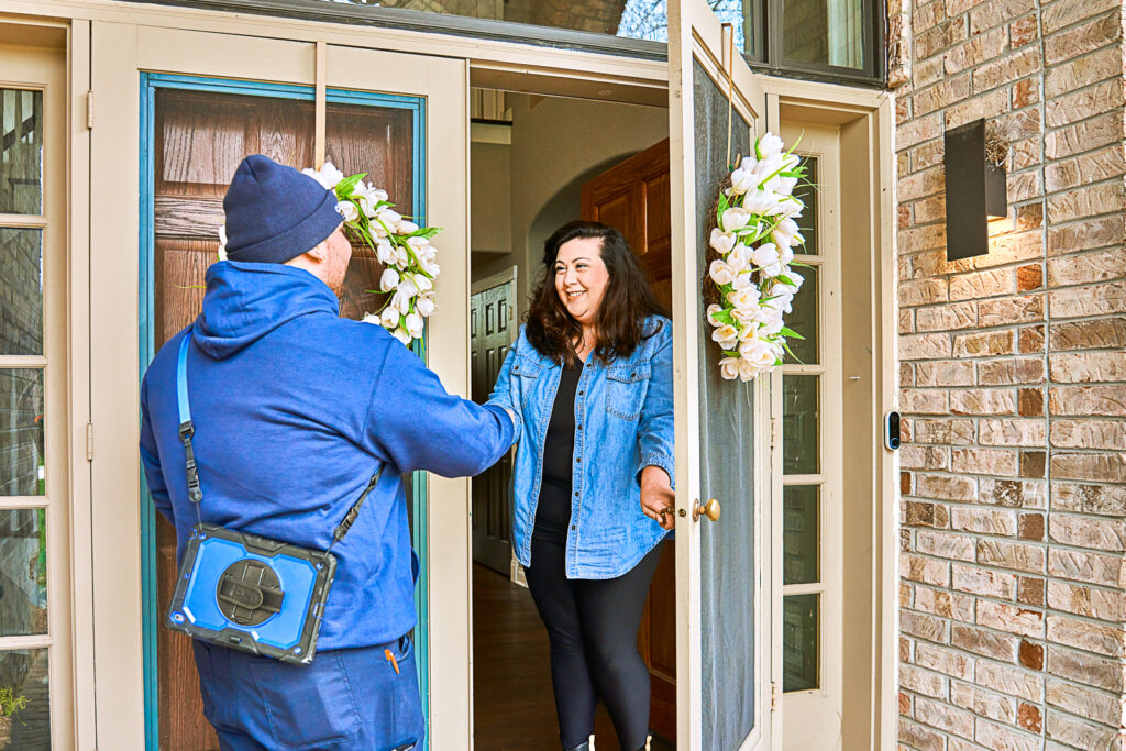
<instances>
[{"instance_id":1,"label":"man in navy beanie and blue hoodie, seen from behind","mask_svg":"<svg viewBox=\"0 0 1126 751\"><path fill-rule=\"evenodd\" d=\"M512 444L512 419L446 392L377 325L339 316L351 247L337 200L266 157L239 166L223 208L229 260L207 269L203 313L141 385L141 458L182 556L196 510L178 435L176 368L188 351L206 522L306 548L382 477L333 547L316 659L292 665L194 642L204 712L223 749L411 749L425 719L403 475L474 475ZM440 509L439 509L440 511Z\"/></svg>"}]
</instances>

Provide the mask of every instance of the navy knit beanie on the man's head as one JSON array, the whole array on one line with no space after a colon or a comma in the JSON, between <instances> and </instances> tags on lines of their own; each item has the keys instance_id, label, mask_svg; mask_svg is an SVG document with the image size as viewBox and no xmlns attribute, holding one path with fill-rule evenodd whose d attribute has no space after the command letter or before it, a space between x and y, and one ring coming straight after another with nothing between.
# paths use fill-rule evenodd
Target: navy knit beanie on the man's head
<instances>
[{"instance_id":1,"label":"navy knit beanie on the man's head","mask_svg":"<svg viewBox=\"0 0 1126 751\"><path fill-rule=\"evenodd\" d=\"M223 211L226 257L232 261L285 263L319 245L343 222L334 191L261 154L239 164Z\"/></svg>"}]
</instances>

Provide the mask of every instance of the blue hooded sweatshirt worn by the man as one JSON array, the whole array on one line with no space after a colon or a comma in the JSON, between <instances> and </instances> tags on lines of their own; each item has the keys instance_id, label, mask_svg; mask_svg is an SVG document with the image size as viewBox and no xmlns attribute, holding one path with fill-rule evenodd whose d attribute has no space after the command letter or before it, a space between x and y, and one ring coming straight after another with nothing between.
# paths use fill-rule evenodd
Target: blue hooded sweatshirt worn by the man
<instances>
[{"instance_id":1,"label":"blue hooded sweatshirt worn by the man","mask_svg":"<svg viewBox=\"0 0 1126 751\"><path fill-rule=\"evenodd\" d=\"M204 521L323 551L386 463L333 548L318 649L402 636L417 620L403 475L482 472L512 445L511 419L447 393L382 327L339 318L337 296L307 271L221 261L206 279L188 352ZM141 458L157 509L176 526L177 560L196 524L176 399L186 333L141 384Z\"/></svg>"}]
</instances>

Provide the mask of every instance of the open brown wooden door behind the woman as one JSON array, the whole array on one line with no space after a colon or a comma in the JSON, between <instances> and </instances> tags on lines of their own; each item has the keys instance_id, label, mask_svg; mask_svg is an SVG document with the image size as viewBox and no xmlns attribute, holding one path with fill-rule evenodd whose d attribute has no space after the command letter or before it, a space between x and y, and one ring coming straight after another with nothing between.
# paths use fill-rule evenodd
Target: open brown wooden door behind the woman
<instances>
[{"instance_id":1,"label":"open brown wooden door behind the woman","mask_svg":"<svg viewBox=\"0 0 1126 751\"><path fill-rule=\"evenodd\" d=\"M672 307L669 141L611 167L582 186L582 218L622 232L649 271L665 310ZM680 324L679 321L676 322ZM649 590L638 646L652 680L650 725L677 736L676 561L665 545Z\"/></svg>"}]
</instances>

